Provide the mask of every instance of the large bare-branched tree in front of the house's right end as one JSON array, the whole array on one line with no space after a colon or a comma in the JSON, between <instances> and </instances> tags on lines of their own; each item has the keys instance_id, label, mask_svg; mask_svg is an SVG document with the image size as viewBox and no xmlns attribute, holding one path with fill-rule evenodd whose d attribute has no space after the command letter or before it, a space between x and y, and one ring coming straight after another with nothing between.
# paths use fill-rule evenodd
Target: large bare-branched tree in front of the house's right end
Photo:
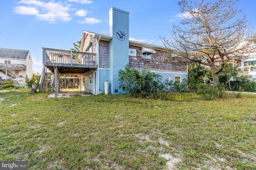
<instances>
[{"instance_id":1,"label":"large bare-branched tree in front of the house's right end","mask_svg":"<svg viewBox=\"0 0 256 170\"><path fill-rule=\"evenodd\" d=\"M239 0L219 0L214 4L182 0L182 26L174 25L170 39L162 41L169 58L180 64L200 63L209 66L213 84L218 89L218 74L229 61L254 52L256 38L247 25L242 10L236 10Z\"/></svg>"}]
</instances>

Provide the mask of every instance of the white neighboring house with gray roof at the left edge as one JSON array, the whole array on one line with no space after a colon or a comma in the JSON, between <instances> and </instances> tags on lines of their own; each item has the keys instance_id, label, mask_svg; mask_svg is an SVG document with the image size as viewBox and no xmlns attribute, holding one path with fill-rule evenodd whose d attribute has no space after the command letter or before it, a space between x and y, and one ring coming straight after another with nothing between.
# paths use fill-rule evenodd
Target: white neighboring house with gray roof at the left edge
<instances>
[{"instance_id":1,"label":"white neighboring house with gray roof at the left edge","mask_svg":"<svg viewBox=\"0 0 256 170\"><path fill-rule=\"evenodd\" d=\"M16 86L24 86L26 75L33 74L33 62L28 50L0 48L0 76L2 80L16 80Z\"/></svg>"}]
</instances>

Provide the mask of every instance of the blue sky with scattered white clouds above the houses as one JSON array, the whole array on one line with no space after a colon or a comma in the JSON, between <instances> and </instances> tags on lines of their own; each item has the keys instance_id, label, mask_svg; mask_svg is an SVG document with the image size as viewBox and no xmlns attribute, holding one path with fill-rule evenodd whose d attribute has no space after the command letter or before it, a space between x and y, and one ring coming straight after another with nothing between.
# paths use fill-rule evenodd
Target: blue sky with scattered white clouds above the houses
<instances>
[{"instance_id":1,"label":"blue sky with scattered white clouds above the houses","mask_svg":"<svg viewBox=\"0 0 256 170\"><path fill-rule=\"evenodd\" d=\"M179 25L180 0L1 0L0 47L29 50L35 73L42 72L42 47L70 50L83 31L109 35L109 10L130 13L129 39L163 46ZM212 3L215 0L209 0ZM200 2L200 0L196 0ZM256 0L236 6L256 29Z\"/></svg>"}]
</instances>

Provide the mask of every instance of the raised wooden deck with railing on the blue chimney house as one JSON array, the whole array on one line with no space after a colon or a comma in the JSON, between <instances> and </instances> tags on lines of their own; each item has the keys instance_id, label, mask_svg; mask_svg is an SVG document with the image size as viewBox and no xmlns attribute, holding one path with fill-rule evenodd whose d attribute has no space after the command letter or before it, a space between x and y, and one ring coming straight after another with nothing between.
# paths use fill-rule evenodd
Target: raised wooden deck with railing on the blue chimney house
<instances>
[{"instance_id":1,"label":"raised wooden deck with railing on the blue chimney house","mask_svg":"<svg viewBox=\"0 0 256 170\"><path fill-rule=\"evenodd\" d=\"M57 66L60 74L82 74L97 68L96 54L60 49L43 49L43 64L51 72Z\"/></svg>"}]
</instances>

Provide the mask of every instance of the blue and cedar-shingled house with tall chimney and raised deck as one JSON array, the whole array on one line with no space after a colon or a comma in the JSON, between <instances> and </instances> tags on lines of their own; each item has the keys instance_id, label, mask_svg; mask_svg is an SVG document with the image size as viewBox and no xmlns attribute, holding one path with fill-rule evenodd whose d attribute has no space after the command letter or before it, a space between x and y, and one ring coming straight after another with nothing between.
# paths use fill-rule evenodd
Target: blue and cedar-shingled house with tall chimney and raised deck
<instances>
[{"instance_id":1,"label":"blue and cedar-shingled house with tall chimney and raised deck","mask_svg":"<svg viewBox=\"0 0 256 170\"><path fill-rule=\"evenodd\" d=\"M129 40L129 12L112 7L109 21L110 35L83 31L79 52L43 48L44 69L54 74L55 97L59 77L64 74L79 76L81 90L85 92L122 94L118 71L126 64L137 70L149 67L163 80L181 82L186 78L188 66L169 62L165 47ZM40 84L45 86L43 80Z\"/></svg>"}]
</instances>

